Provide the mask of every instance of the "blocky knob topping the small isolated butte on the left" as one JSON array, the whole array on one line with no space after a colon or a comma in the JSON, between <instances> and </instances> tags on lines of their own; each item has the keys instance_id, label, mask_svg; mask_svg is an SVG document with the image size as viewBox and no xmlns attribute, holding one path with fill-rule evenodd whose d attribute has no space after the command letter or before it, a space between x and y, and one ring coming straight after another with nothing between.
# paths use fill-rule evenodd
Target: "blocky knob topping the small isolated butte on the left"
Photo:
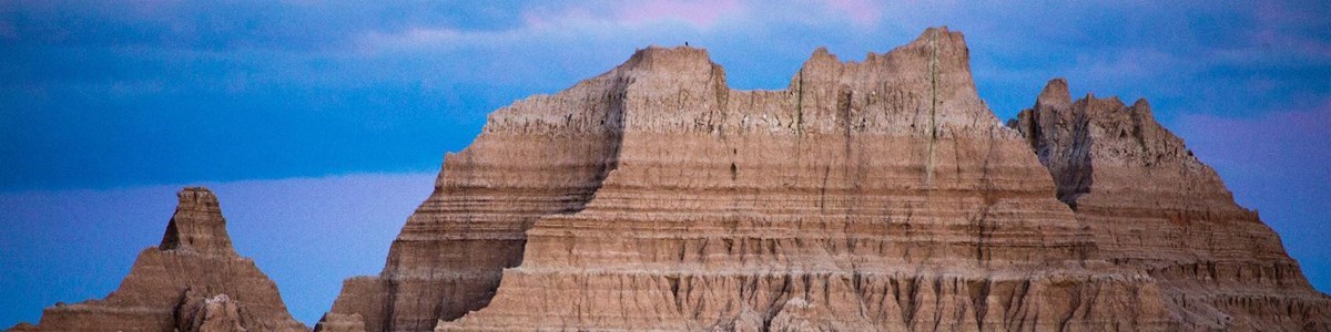
<instances>
[{"instance_id":1,"label":"blocky knob topping the small isolated butte on the left","mask_svg":"<svg viewBox=\"0 0 1331 332\"><path fill-rule=\"evenodd\" d=\"M176 194L180 203L166 224L160 250L188 250L204 254L236 255L226 219L217 195L206 187L185 187Z\"/></svg>"}]
</instances>

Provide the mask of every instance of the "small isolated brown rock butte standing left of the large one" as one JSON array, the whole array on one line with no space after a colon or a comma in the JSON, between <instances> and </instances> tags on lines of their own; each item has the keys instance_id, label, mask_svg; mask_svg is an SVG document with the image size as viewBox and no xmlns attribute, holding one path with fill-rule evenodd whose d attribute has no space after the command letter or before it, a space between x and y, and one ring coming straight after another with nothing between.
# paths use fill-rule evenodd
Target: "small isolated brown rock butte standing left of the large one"
<instances>
[{"instance_id":1,"label":"small isolated brown rock butte standing left of the large one","mask_svg":"<svg viewBox=\"0 0 1331 332\"><path fill-rule=\"evenodd\" d=\"M106 299L47 308L17 331L306 331L277 284L238 256L208 189L188 187L157 247L138 254ZM27 328L27 329L24 329Z\"/></svg>"}]
</instances>

